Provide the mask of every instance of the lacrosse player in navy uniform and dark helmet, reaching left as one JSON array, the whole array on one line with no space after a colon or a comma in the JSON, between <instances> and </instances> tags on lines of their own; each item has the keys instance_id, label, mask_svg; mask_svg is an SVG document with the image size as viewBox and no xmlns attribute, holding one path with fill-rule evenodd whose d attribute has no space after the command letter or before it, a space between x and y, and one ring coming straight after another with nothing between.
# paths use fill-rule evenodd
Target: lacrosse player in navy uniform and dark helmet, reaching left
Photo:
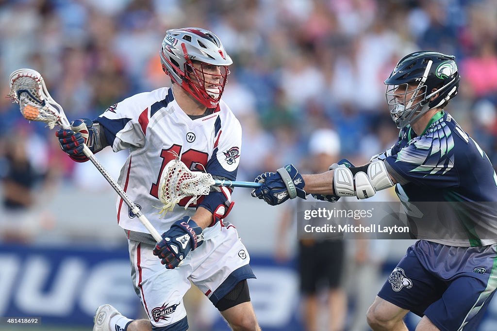
<instances>
[{"instance_id":1,"label":"lacrosse player in navy uniform and dark helmet, reaching left","mask_svg":"<svg viewBox=\"0 0 497 331\"><path fill-rule=\"evenodd\" d=\"M398 142L361 167L340 166L300 175L293 165L264 173L254 197L276 205L306 194L366 199L396 185L401 201L497 200L497 176L485 152L444 107L457 94L455 57L415 52L385 80L390 115L401 129ZM324 196L321 196L325 199ZM457 215L457 213L455 213ZM476 330L497 287L495 213L464 223L464 236L442 228L438 237L419 238L392 271L367 312L374 331L407 330L409 311L422 316L417 331ZM433 222L428 223L435 223ZM452 224L457 227L457 223ZM422 233L424 226L417 224Z\"/></svg>"}]
</instances>

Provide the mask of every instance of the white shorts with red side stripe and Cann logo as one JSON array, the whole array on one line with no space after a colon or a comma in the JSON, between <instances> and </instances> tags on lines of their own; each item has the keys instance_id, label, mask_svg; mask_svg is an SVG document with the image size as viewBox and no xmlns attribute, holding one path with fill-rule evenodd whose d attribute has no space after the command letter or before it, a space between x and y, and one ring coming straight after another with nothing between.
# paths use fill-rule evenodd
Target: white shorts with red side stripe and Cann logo
<instances>
[{"instance_id":1,"label":"white shorts with red side stripe and Cann logo","mask_svg":"<svg viewBox=\"0 0 497 331\"><path fill-rule=\"evenodd\" d=\"M129 239L128 243L135 291L154 330L188 329L183 296L190 281L216 305L240 281L255 278L247 249L229 223L174 269L166 269L153 255L154 245Z\"/></svg>"}]
</instances>

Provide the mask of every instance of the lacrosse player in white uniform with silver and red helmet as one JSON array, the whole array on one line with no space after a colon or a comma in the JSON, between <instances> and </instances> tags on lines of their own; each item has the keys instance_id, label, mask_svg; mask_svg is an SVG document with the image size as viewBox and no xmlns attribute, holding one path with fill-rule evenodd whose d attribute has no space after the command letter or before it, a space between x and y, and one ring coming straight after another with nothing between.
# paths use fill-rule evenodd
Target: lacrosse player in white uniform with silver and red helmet
<instances>
[{"instance_id":1,"label":"lacrosse player in white uniform with silver and red helmet","mask_svg":"<svg viewBox=\"0 0 497 331\"><path fill-rule=\"evenodd\" d=\"M231 191L217 188L197 201L161 215L161 172L179 155L193 171L235 180L242 129L221 101L232 64L219 38L201 28L166 32L162 67L171 88L134 95L109 107L94 121L76 120L57 132L61 146L78 162L87 160L83 142L94 152L111 146L129 149L118 183L163 233L159 243L117 201L117 222L126 233L132 280L149 320L130 320L110 305L100 306L93 331L184 331L183 295L196 285L233 330L260 330L250 303L248 278L255 278L247 249L235 227L222 219L233 203ZM188 204L190 203L190 204Z\"/></svg>"}]
</instances>

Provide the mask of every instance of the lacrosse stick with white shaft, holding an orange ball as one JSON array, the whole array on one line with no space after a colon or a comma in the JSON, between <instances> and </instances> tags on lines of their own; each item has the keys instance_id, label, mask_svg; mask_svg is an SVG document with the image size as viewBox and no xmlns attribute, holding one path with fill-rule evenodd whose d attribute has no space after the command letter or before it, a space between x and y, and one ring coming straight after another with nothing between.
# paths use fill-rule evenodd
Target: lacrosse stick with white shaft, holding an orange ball
<instances>
[{"instance_id":1,"label":"lacrosse stick with white shaft, holding an orange ball","mask_svg":"<svg viewBox=\"0 0 497 331\"><path fill-rule=\"evenodd\" d=\"M38 71L26 68L18 69L10 74L9 79L9 96L14 102L19 104L21 114L26 120L44 122L50 129L53 129L58 125L63 129L71 130L71 124L69 123L66 114L64 114L64 110L61 105L52 99L48 93L43 77ZM150 221L142 214L135 203L128 198L124 190L121 189L119 184L117 184L109 175L107 170L105 170L95 158L86 144L83 146L83 153L90 159L91 163L95 165L103 177L105 177L119 197L126 202L131 209L131 212L138 217L154 239L157 242L161 241L162 237L159 232L150 224Z\"/></svg>"}]
</instances>

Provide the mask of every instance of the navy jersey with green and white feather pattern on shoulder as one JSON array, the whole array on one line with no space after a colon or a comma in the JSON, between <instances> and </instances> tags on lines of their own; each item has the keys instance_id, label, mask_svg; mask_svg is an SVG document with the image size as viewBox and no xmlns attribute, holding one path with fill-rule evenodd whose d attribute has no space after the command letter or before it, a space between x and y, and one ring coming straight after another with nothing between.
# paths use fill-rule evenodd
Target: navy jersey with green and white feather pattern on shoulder
<instances>
[{"instance_id":1,"label":"navy jersey with green and white feather pattern on shoulder","mask_svg":"<svg viewBox=\"0 0 497 331\"><path fill-rule=\"evenodd\" d=\"M410 126L402 129L385 164L398 183L396 192L403 202L414 205L421 205L416 203L419 201L462 202L438 204L453 209L450 217L456 219L448 220L450 224L436 224L440 215L432 218L431 223L426 219L417 223L410 219L415 223L418 239L451 246L497 243L495 203L486 203L493 211L483 210L479 205L480 201L497 201L496 173L478 143L449 114L443 111L435 114L419 136ZM474 210L456 210L461 204ZM480 213L479 217L473 212Z\"/></svg>"}]
</instances>

